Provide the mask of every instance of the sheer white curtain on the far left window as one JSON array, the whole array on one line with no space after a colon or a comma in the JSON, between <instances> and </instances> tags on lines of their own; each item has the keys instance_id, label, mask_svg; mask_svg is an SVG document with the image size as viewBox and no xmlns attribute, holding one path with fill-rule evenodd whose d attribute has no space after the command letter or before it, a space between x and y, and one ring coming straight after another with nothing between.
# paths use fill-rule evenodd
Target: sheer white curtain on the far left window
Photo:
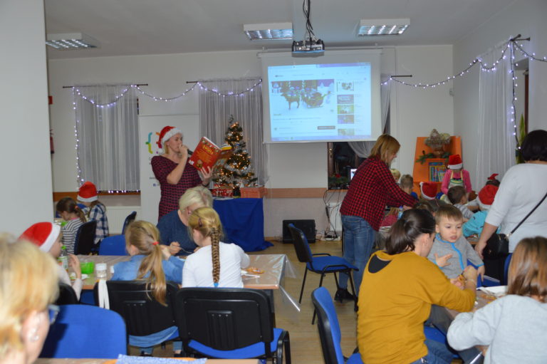
<instances>
[{"instance_id":1,"label":"sheer white curtain on the far left window","mask_svg":"<svg viewBox=\"0 0 547 364\"><path fill-rule=\"evenodd\" d=\"M75 91L74 95L78 184L88 180L103 191L139 190L139 130L134 89L128 85L76 85L75 89L80 92L78 95ZM125 95L118 98L124 90L127 90Z\"/></svg>"}]
</instances>

